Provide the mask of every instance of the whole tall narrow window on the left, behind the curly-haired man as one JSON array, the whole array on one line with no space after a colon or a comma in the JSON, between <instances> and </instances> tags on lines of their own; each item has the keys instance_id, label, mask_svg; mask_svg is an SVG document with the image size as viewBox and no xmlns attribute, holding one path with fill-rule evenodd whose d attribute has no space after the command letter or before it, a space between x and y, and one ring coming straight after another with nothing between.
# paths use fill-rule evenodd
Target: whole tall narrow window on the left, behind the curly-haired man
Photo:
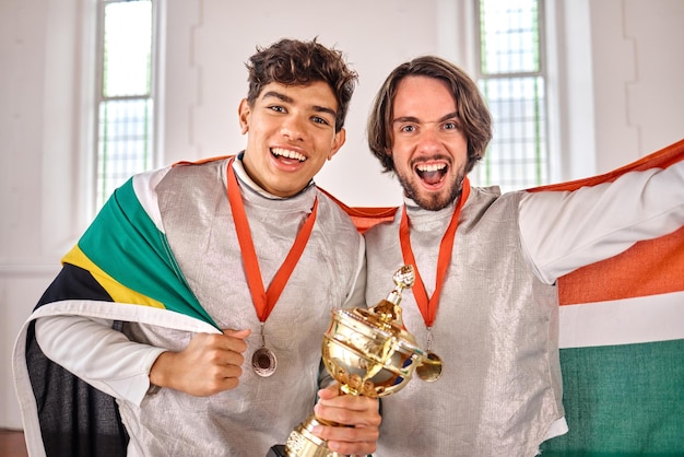
<instances>
[{"instance_id":1,"label":"whole tall narrow window on the left, behind the curly-haired man","mask_svg":"<svg viewBox=\"0 0 684 457\"><path fill-rule=\"evenodd\" d=\"M155 5L98 4L96 204L153 164Z\"/></svg>"}]
</instances>

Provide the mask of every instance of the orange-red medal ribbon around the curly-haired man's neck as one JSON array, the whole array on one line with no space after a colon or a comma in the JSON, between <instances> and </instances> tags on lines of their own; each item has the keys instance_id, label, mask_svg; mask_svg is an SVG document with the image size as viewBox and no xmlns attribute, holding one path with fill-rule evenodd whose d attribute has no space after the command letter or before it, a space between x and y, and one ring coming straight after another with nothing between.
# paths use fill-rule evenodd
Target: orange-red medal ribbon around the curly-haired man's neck
<instances>
[{"instance_id":1,"label":"orange-red medal ribbon around the curly-haired man's neck","mask_svg":"<svg viewBox=\"0 0 684 457\"><path fill-rule=\"evenodd\" d=\"M237 184L237 177L233 169L233 160L228 162L227 180L228 180L228 202L233 209L233 219L235 220L235 232L237 233L237 241L240 245L240 253L243 255L243 262L245 263L245 273L247 276L247 284L249 284L249 292L251 294L251 301L253 302L255 309L259 320L264 323L268 319L271 310L275 306L275 302L280 297L287 280L292 276L297 261L304 253L314 223L316 222L316 213L318 210L318 197L314 200L314 208L311 213L307 216L304 225L299 230L297 237L295 238L285 261L280 267L268 291L263 290L263 279L261 277L261 269L259 268L259 260L257 259L257 251L255 250L255 243L251 238L249 231L249 222L247 221L247 214L245 213L245 204L240 196L239 187Z\"/></svg>"}]
</instances>

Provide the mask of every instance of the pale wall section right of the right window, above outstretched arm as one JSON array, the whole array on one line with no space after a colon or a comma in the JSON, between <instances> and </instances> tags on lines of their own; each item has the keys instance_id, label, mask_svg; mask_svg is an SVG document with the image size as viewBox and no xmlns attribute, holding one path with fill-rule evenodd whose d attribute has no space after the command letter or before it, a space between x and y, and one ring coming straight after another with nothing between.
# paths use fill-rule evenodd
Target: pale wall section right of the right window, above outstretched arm
<instances>
[{"instance_id":1,"label":"pale wall section right of the right window, above outstretched arm","mask_svg":"<svg viewBox=\"0 0 684 457\"><path fill-rule=\"evenodd\" d=\"M605 172L684 138L684 2L590 4L594 144Z\"/></svg>"}]
</instances>

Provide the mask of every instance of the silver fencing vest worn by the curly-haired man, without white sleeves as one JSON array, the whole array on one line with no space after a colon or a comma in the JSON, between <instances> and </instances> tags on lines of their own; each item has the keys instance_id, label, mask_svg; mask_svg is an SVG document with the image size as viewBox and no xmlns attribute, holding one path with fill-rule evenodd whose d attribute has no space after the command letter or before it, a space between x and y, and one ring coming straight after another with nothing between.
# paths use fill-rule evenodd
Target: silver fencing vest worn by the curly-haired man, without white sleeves
<instances>
[{"instance_id":1,"label":"silver fencing vest worn by the curly-haired man, without white sleeves","mask_svg":"<svg viewBox=\"0 0 684 457\"><path fill-rule=\"evenodd\" d=\"M140 455L256 456L284 443L312 412L331 310L361 285L361 236L335 203L315 186L290 199L269 199L241 185L264 288L319 199L307 247L263 326L278 368L270 377L257 376L249 360L262 344L261 329L222 184L225 169L223 161L177 167L156 192L169 245L199 302L221 328L252 329L244 373L236 389L207 398L162 389L140 407L119 402ZM191 337L135 324L125 330L138 341L170 349L184 348Z\"/></svg>"}]
</instances>

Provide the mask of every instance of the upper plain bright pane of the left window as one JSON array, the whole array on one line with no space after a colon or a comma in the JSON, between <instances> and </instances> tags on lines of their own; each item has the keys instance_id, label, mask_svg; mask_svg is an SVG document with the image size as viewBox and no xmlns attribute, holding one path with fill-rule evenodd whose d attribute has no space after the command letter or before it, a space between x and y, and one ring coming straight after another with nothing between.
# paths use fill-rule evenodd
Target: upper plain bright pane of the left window
<instances>
[{"instance_id":1,"label":"upper plain bright pane of the left window","mask_svg":"<svg viewBox=\"0 0 684 457\"><path fill-rule=\"evenodd\" d=\"M148 95L152 59L152 2L105 4L103 95Z\"/></svg>"}]
</instances>

